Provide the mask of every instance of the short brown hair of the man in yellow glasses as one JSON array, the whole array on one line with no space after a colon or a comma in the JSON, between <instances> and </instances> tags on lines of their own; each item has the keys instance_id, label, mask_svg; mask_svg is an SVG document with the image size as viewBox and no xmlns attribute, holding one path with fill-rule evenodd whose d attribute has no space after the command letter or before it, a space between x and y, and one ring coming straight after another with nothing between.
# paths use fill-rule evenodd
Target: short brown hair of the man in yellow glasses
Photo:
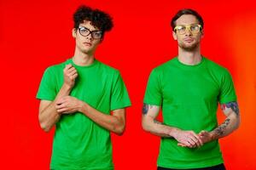
<instances>
[{"instance_id":1,"label":"short brown hair of the man in yellow glasses","mask_svg":"<svg viewBox=\"0 0 256 170\"><path fill-rule=\"evenodd\" d=\"M177 11L177 14L175 14L172 18L171 21L171 26L172 26L172 30L174 31L174 28L176 26L176 20L181 17L183 14L192 14L195 16L195 18L198 20L199 24L201 25L201 29L203 29L204 27L204 21L201 18L201 15L198 14L195 10L191 9L191 8L183 8L179 11Z\"/></svg>"}]
</instances>

